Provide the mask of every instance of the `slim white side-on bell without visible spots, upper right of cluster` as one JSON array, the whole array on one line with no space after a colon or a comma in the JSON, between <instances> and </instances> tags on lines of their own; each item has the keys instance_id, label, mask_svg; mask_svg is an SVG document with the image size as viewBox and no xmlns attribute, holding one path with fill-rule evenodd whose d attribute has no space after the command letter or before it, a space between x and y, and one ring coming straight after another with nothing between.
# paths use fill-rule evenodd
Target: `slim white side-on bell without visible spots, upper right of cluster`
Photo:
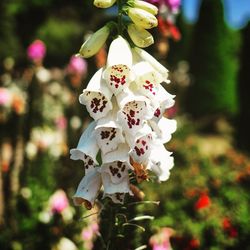
<instances>
[{"instance_id":1,"label":"slim white side-on bell without visible spots, upper right of cluster","mask_svg":"<svg viewBox=\"0 0 250 250\"><path fill-rule=\"evenodd\" d=\"M168 69L164 67L161 63L159 63L153 56L151 56L148 52L140 48L133 48L133 52L137 53L142 61L146 61L151 66L158 71L166 81L168 78Z\"/></svg>"}]
</instances>

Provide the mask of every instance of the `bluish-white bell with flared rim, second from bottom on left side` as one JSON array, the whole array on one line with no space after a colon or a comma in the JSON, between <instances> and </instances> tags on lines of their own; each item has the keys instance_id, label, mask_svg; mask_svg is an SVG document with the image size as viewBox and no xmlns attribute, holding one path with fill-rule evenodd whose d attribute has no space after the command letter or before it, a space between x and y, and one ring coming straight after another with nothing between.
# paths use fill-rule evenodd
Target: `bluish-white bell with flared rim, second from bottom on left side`
<instances>
[{"instance_id":1,"label":"bluish-white bell with flared rim, second from bottom on left side","mask_svg":"<svg viewBox=\"0 0 250 250\"><path fill-rule=\"evenodd\" d=\"M81 135L77 148L70 150L70 159L82 160L85 173L91 171L95 164L98 164L96 156L99 151L99 147L97 146L95 140L95 126L96 122L90 123L88 128Z\"/></svg>"}]
</instances>

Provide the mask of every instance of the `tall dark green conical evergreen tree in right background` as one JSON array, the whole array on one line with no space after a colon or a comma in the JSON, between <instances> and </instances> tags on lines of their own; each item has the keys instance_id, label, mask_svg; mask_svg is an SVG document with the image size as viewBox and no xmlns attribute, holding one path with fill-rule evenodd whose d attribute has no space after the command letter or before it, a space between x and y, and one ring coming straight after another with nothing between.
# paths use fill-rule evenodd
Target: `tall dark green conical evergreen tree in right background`
<instances>
[{"instance_id":1,"label":"tall dark green conical evergreen tree in right background","mask_svg":"<svg viewBox=\"0 0 250 250\"><path fill-rule=\"evenodd\" d=\"M203 0L190 50L193 85L186 110L192 115L236 114L239 40L225 24L222 2Z\"/></svg>"}]
</instances>

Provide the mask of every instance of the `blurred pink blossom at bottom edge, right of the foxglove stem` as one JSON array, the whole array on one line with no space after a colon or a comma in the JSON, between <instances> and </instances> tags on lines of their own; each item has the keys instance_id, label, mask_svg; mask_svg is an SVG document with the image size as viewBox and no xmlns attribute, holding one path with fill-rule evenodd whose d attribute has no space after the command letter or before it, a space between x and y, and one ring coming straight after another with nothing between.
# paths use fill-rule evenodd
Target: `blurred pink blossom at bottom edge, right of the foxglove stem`
<instances>
[{"instance_id":1,"label":"blurred pink blossom at bottom edge, right of the foxglove stem","mask_svg":"<svg viewBox=\"0 0 250 250\"><path fill-rule=\"evenodd\" d=\"M149 239L152 250L172 250L170 237L174 234L174 230L169 227L161 228L158 233Z\"/></svg>"}]
</instances>

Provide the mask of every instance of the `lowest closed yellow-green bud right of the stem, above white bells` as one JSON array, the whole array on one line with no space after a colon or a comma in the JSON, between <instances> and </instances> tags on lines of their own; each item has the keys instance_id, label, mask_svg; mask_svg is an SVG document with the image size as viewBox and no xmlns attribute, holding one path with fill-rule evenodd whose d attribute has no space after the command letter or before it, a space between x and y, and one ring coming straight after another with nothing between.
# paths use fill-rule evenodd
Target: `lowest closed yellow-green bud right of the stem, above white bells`
<instances>
[{"instance_id":1,"label":"lowest closed yellow-green bud right of the stem, above white bells","mask_svg":"<svg viewBox=\"0 0 250 250\"><path fill-rule=\"evenodd\" d=\"M146 48L154 43L153 36L147 30L135 24L129 24L128 34L133 43L140 48Z\"/></svg>"}]
</instances>

